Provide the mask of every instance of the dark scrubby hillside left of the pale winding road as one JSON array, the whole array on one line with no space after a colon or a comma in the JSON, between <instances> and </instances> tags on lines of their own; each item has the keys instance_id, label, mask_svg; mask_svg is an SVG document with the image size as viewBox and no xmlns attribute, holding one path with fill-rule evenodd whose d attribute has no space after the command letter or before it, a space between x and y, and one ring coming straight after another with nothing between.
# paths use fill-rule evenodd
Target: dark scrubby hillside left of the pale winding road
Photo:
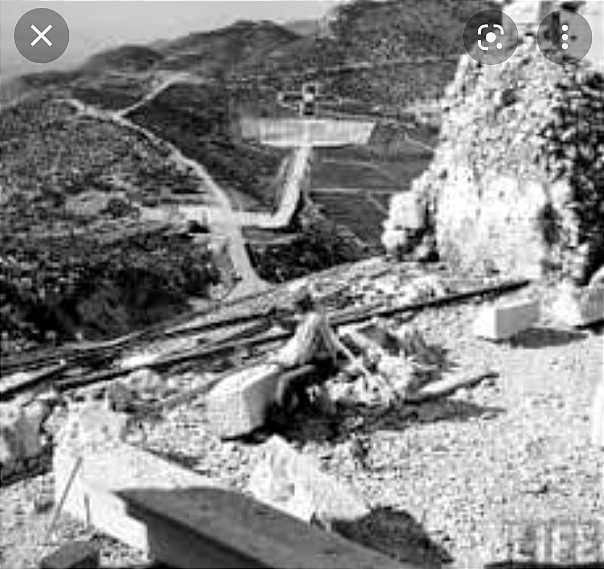
<instances>
[{"instance_id":1,"label":"dark scrubby hillside left of the pale winding road","mask_svg":"<svg viewBox=\"0 0 604 569\"><path fill-rule=\"evenodd\" d=\"M208 248L141 219L171 189L199 189L165 149L43 96L0 127L3 351L125 333L208 294Z\"/></svg>"}]
</instances>

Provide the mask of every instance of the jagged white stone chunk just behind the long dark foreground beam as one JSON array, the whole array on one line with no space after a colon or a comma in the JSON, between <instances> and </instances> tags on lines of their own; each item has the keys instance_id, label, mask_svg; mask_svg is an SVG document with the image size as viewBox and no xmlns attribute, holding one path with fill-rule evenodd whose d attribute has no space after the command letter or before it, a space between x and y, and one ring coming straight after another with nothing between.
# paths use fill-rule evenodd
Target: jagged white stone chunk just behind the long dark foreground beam
<instances>
[{"instance_id":1,"label":"jagged white stone chunk just behind the long dark foreground beam","mask_svg":"<svg viewBox=\"0 0 604 569\"><path fill-rule=\"evenodd\" d=\"M317 461L273 436L252 472L248 491L273 508L310 522L354 521L369 514L365 500L324 473Z\"/></svg>"}]
</instances>

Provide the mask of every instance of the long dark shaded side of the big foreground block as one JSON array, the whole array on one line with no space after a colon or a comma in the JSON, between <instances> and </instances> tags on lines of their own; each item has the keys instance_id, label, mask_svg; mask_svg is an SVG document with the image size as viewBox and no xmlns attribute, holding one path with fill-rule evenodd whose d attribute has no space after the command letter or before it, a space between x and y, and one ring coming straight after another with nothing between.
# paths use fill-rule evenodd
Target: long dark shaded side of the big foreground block
<instances>
[{"instance_id":1,"label":"long dark shaded side of the big foreground block","mask_svg":"<svg viewBox=\"0 0 604 569\"><path fill-rule=\"evenodd\" d=\"M221 488L124 490L148 530L150 553L182 569L418 569Z\"/></svg>"}]
</instances>

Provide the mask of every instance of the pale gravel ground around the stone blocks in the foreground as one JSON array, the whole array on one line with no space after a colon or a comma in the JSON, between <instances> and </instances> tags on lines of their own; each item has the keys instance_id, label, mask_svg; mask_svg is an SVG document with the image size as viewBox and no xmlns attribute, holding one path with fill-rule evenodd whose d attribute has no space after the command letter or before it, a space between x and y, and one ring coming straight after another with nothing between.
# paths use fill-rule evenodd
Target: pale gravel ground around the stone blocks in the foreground
<instances>
[{"instance_id":1,"label":"pale gravel ground around the stone blocks in the foreground","mask_svg":"<svg viewBox=\"0 0 604 569\"><path fill-rule=\"evenodd\" d=\"M478 308L427 310L415 323L460 370L471 375L488 367L497 379L385 414L307 412L282 431L374 508L371 519L344 533L426 567L447 558L454 569L502 559L512 527L505 520L600 519L602 458L589 445L589 414L603 374L602 331L556 330L545 319L512 344L494 344L470 333ZM223 443L209 433L203 400L146 429L149 450L237 489L259 457L257 441ZM48 550L43 529L51 514L37 511L44 500L36 496L49 488L51 475L2 489L0 566L31 567ZM61 538L93 535L67 519L57 531ZM145 562L113 540L94 539L103 566Z\"/></svg>"}]
</instances>

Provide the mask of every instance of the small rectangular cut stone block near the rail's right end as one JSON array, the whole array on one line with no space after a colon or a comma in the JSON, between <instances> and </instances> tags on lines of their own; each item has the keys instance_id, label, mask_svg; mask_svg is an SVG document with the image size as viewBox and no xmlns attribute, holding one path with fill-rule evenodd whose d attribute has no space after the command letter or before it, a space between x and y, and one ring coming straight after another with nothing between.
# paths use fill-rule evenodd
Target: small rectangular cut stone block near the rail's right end
<instances>
[{"instance_id":1,"label":"small rectangular cut stone block near the rail's right end","mask_svg":"<svg viewBox=\"0 0 604 569\"><path fill-rule=\"evenodd\" d=\"M515 300L482 308L474 321L474 335L488 340L508 340L530 328L540 318L539 300Z\"/></svg>"}]
</instances>

